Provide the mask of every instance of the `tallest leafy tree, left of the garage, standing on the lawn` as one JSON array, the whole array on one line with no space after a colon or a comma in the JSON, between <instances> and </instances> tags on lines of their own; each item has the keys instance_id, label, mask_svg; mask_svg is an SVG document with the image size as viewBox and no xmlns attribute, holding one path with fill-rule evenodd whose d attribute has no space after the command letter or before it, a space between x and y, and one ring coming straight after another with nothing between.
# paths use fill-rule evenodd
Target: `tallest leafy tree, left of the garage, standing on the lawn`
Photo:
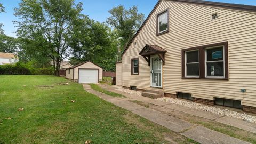
<instances>
[{"instance_id":1,"label":"tallest leafy tree, left of the garage, standing on the lawn","mask_svg":"<svg viewBox=\"0 0 256 144\"><path fill-rule=\"evenodd\" d=\"M70 38L74 23L81 17L82 3L74 0L22 0L14 15L21 21L17 35L35 45L38 53L51 60L55 75L59 76L60 63L70 55ZM33 49L25 46L23 49Z\"/></svg>"}]
</instances>

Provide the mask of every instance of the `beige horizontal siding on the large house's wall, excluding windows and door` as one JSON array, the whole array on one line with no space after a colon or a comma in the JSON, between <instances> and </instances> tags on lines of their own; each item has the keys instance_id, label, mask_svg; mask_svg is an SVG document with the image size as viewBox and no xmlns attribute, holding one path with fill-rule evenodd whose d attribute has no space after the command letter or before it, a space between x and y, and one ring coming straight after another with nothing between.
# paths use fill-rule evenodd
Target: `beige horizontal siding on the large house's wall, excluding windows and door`
<instances>
[{"instance_id":1,"label":"beige horizontal siding on the large house's wall, excluding windows and door","mask_svg":"<svg viewBox=\"0 0 256 144\"><path fill-rule=\"evenodd\" d=\"M156 14L169 8L170 31L156 36ZM211 14L218 12L218 19ZM181 50L228 41L229 81L181 79ZM137 44L134 45L134 42ZM150 88L150 67L139 52L146 44L167 50L163 66L166 93L191 93L193 97L242 100L256 106L256 13L162 1L122 58L122 84ZM139 57L139 75L131 75L131 59ZM241 93L240 89L246 89Z\"/></svg>"}]
</instances>

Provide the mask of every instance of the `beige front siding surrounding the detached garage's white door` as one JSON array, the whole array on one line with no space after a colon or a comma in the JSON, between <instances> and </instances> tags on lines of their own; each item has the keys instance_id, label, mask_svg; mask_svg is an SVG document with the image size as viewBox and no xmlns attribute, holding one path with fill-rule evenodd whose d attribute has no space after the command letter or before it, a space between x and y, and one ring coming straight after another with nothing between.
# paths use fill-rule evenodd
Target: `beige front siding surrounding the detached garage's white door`
<instances>
[{"instance_id":1,"label":"beige front siding surrounding the detached garage's white door","mask_svg":"<svg viewBox=\"0 0 256 144\"><path fill-rule=\"evenodd\" d=\"M94 65L92 62L86 62L81 66L75 67L75 73L74 73L74 80L78 80L78 68L92 68L92 69L99 69L99 79L102 80L103 70L102 68L98 67L97 65Z\"/></svg>"}]
</instances>

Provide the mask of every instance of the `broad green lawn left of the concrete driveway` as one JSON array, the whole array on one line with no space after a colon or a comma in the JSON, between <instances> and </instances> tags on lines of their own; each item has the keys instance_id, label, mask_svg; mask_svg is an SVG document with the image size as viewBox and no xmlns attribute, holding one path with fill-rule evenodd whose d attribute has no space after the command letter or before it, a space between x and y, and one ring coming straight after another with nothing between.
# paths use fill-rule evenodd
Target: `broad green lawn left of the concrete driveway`
<instances>
[{"instance_id":1,"label":"broad green lawn left of the concrete driveway","mask_svg":"<svg viewBox=\"0 0 256 144\"><path fill-rule=\"evenodd\" d=\"M0 81L0 143L194 142L61 77L0 75Z\"/></svg>"}]
</instances>

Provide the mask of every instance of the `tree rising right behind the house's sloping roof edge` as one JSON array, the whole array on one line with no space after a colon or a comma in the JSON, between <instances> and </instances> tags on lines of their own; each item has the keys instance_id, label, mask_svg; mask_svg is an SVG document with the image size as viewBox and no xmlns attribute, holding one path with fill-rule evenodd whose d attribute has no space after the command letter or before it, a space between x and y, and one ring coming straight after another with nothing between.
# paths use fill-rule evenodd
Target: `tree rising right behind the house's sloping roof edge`
<instances>
[{"instance_id":1,"label":"tree rising right behind the house's sloping roof edge","mask_svg":"<svg viewBox=\"0 0 256 144\"><path fill-rule=\"evenodd\" d=\"M108 11L110 17L107 18L107 23L117 29L120 41L120 52L123 52L136 31L144 21L144 14L138 13L138 7L132 6L128 10L123 5L113 7Z\"/></svg>"}]
</instances>

